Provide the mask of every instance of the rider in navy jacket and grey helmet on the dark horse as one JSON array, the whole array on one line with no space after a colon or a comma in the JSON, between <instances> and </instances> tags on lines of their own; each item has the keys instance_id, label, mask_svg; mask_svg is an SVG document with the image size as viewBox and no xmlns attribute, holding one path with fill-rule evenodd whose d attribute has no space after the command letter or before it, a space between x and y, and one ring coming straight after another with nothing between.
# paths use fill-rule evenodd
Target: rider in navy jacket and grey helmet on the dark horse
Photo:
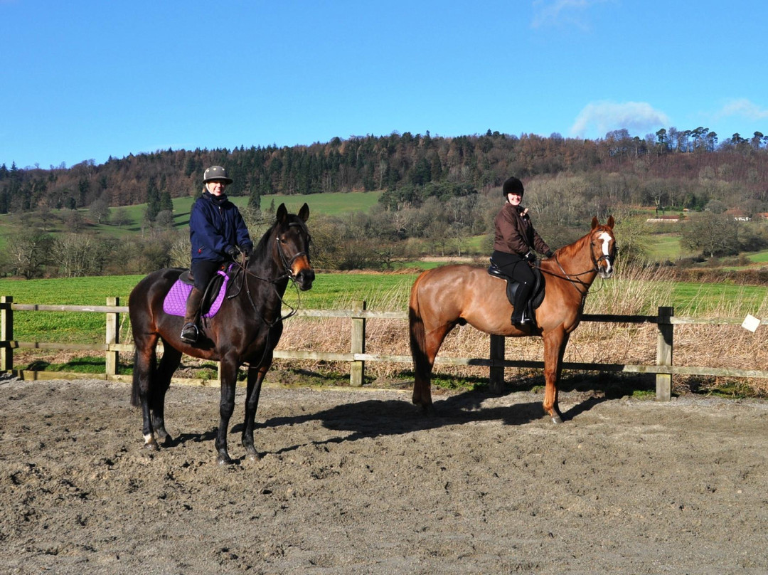
<instances>
[{"instance_id":1,"label":"rider in navy jacket and grey helmet on the dark horse","mask_svg":"<svg viewBox=\"0 0 768 575\"><path fill-rule=\"evenodd\" d=\"M232 183L221 166L205 171L205 189L190 212L190 244L192 245L192 277L194 287L187 298L181 339L189 344L197 341L197 316L205 289L216 271L227 259L234 260L242 252L253 250L240 210L227 199L224 188Z\"/></svg>"}]
</instances>

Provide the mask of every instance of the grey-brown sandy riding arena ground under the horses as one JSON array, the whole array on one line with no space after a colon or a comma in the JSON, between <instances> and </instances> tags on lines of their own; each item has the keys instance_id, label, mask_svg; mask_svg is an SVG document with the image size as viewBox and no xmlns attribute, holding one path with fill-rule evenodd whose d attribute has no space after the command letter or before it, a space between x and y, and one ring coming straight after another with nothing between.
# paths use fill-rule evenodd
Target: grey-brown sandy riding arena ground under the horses
<instances>
[{"instance_id":1,"label":"grey-brown sandy riding arena ground under the horses","mask_svg":"<svg viewBox=\"0 0 768 575\"><path fill-rule=\"evenodd\" d=\"M0 573L768 573L766 401L266 387L223 467L216 388L155 454L129 395L0 379Z\"/></svg>"}]
</instances>

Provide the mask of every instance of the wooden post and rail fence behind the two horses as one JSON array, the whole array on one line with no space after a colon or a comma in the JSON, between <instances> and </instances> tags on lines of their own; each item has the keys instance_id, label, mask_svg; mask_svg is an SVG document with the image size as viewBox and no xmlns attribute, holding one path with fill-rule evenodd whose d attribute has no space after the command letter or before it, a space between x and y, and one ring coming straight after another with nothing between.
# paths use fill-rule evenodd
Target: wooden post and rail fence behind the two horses
<instances>
[{"instance_id":1,"label":"wooden post and rail fence behind the two horses","mask_svg":"<svg viewBox=\"0 0 768 575\"><path fill-rule=\"evenodd\" d=\"M366 354L366 322L376 319L407 320L405 311L370 311L366 302L353 304L354 309L347 310L300 310L298 316L303 317L347 317L351 322L352 344L349 353L330 353L323 351L290 351L275 350L276 359L296 359L313 361L349 362L349 384L359 387L365 377L366 361L388 361L392 363L411 364L409 355ZM104 344L57 344L50 342L15 341L13 335L13 314L15 311L76 311L92 312L106 315L106 330ZM118 374L118 354L133 353L133 344L121 344L118 341L120 314L127 313L127 306L121 306L118 297L108 297L106 305L43 305L43 304L14 304L12 296L0 296L0 372L12 372L24 379L66 379L68 377L89 377L114 381L129 381L130 376ZM676 317L672 307L659 307L657 315L613 315L613 314L584 314L581 321L598 321L611 324L657 324L656 364L587 364L565 362L563 368L575 371L608 371L635 374L656 374L656 398L659 401L669 401L672 395L673 375L708 375L727 377L768 377L768 371L733 369L728 367L683 367L673 364L674 326L680 324L741 324L736 318L696 318ZM760 324L768 324L762 320ZM106 356L105 374L71 374L48 371L15 371L13 368L13 351L17 348L36 348L54 350L86 350L103 351ZM543 368L543 361L511 361L505 359L505 337L490 337L488 357L441 357L435 364L471 365L488 367L488 377L492 391L501 392L504 386L504 370L506 367ZM187 383L210 384L204 380L186 380Z\"/></svg>"}]
</instances>

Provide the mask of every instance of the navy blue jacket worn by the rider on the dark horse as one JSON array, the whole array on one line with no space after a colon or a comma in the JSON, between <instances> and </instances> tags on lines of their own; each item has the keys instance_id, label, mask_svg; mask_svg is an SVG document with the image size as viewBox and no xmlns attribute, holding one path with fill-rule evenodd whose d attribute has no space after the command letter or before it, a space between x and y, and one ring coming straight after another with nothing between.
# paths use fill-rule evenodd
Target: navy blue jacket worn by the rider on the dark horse
<instances>
[{"instance_id":1,"label":"navy blue jacket worn by the rider on the dark horse","mask_svg":"<svg viewBox=\"0 0 768 575\"><path fill-rule=\"evenodd\" d=\"M237 206L227 199L204 191L190 212L190 243L192 261L223 261L227 248L240 246L253 249L248 228Z\"/></svg>"}]
</instances>

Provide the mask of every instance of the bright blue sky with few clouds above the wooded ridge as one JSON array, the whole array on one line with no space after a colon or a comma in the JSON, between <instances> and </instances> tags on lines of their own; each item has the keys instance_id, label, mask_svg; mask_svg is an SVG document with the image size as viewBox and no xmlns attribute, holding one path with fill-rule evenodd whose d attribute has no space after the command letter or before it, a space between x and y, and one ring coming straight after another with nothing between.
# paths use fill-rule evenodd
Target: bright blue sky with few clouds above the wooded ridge
<instances>
[{"instance_id":1,"label":"bright blue sky with few clouds above the wooded ridge","mask_svg":"<svg viewBox=\"0 0 768 575\"><path fill-rule=\"evenodd\" d=\"M335 136L768 135L768 2L0 0L0 164Z\"/></svg>"}]
</instances>

